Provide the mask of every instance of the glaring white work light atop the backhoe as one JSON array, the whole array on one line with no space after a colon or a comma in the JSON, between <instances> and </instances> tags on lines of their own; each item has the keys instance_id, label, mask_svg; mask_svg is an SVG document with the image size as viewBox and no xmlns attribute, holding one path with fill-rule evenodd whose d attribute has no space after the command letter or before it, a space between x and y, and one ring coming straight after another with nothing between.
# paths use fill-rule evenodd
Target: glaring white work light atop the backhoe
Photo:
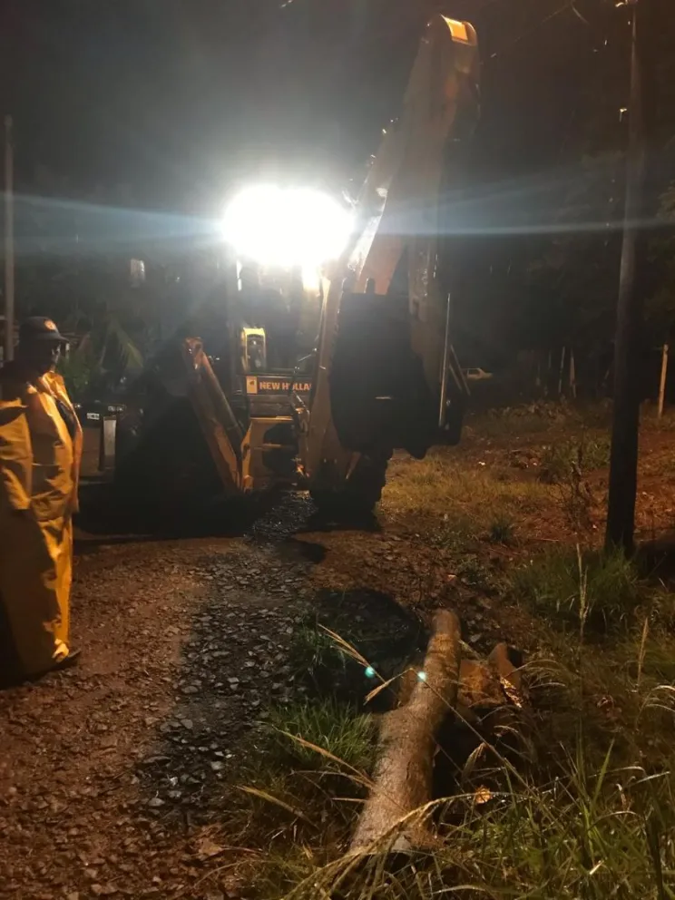
<instances>
[{"instance_id":1,"label":"glaring white work light atop the backhoe","mask_svg":"<svg viewBox=\"0 0 675 900\"><path fill-rule=\"evenodd\" d=\"M241 256L268 266L308 269L337 259L351 215L328 194L308 188L258 185L225 210L225 239Z\"/></svg>"}]
</instances>

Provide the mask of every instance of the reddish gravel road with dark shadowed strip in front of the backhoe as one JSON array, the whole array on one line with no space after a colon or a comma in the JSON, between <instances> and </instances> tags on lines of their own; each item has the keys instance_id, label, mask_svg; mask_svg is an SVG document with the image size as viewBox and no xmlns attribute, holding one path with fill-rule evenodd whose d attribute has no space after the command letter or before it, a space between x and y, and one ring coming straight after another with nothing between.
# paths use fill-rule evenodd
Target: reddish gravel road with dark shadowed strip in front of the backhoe
<instances>
[{"instance_id":1,"label":"reddish gravel road with dark shadowed strip in front of the backhoe","mask_svg":"<svg viewBox=\"0 0 675 900\"><path fill-rule=\"evenodd\" d=\"M0 896L223 896L205 836L242 734L288 690L308 563L243 539L91 550L81 665L0 693Z\"/></svg>"}]
</instances>

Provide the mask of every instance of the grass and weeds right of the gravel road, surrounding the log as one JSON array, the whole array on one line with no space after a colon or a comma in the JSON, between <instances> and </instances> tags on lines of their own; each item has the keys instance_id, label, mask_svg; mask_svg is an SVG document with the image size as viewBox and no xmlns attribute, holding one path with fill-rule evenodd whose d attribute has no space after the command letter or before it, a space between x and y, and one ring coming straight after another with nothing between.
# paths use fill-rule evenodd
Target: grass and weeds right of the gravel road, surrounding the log
<instances>
[{"instance_id":1,"label":"grass and weeds right of the gravel road, surrounding the log","mask_svg":"<svg viewBox=\"0 0 675 900\"><path fill-rule=\"evenodd\" d=\"M470 618L472 598L482 596L483 608L492 598L492 614L524 651L528 758L514 768L484 746L491 787L481 787L476 766L471 792L436 798L427 812L437 844L408 865L386 846L350 856L377 720L331 694L346 668L362 666L357 651L308 622L292 669L299 681L300 671L314 673L324 693L272 710L257 768L240 778L241 840L259 850L255 896L675 900L675 596L639 563L600 552L591 527L580 539L562 500L586 474L602 478L609 445L575 415L565 411L562 432L557 416L545 434L520 431L524 465L519 456L514 465L508 439L485 456L483 432L458 452L401 462L383 504L385 525L407 524L443 577L455 576L441 602Z\"/></svg>"}]
</instances>

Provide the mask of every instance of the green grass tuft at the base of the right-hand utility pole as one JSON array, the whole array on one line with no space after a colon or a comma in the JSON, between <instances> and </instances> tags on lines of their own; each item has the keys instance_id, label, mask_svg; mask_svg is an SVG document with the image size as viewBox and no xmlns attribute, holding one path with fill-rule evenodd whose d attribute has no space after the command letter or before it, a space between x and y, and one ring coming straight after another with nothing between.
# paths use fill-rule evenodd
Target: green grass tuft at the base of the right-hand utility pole
<instances>
[{"instance_id":1,"label":"green grass tuft at the base of the right-hand utility pole","mask_svg":"<svg viewBox=\"0 0 675 900\"><path fill-rule=\"evenodd\" d=\"M623 553L544 553L514 573L515 596L553 625L563 621L614 629L630 621L646 588Z\"/></svg>"}]
</instances>

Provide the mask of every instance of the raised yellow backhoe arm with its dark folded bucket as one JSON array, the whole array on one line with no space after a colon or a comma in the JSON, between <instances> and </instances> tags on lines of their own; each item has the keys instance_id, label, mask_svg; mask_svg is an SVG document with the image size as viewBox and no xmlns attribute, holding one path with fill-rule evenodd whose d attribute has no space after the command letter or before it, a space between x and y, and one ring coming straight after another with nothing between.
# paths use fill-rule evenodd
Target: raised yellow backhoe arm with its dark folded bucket
<instances>
[{"instance_id":1,"label":"raised yellow backhoe arm with its dark folded bucket","mask_svg":"<svg viewBox=\"0 0 675 900\"><path fill-rule=\"evenodd\" d=\"M357 200L354 238L324 282L302 458L315 491L339 491L396 447L456 443L468 393L451 341L440 241L458 148L479 112L474 28L427 25L400 118ZM458 179L455 177L455 185Z\"/></svg>"}]
</instances>

